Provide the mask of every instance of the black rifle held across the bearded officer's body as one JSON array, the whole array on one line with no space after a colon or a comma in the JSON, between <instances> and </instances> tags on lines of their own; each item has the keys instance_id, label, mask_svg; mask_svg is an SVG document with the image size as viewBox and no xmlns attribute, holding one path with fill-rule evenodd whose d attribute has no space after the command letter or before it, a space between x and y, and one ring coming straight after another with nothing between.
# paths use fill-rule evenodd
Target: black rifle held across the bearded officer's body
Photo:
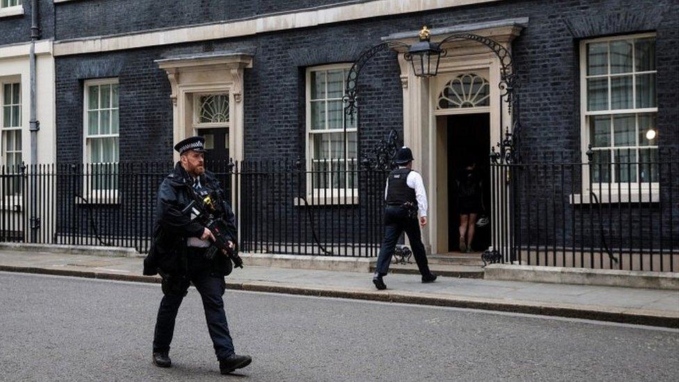
<instances>
[{"instance_id":1,"label":"black rifle held across the bearded officer's body","mask_svg":"<svg viewBox=\"0 0 679 382\"><path fill-rule=\"evenodd\" d=\"M218 217L221 216L221 211L217 206L221 206L223 201L219 200L214 193L208 193L201 198L191 186L188 189L193 200L186 206L184 212L190 213L192 221L199 221L214 236L214 241L211 240L212 245L205 253L207 260L212 260L218 252L223 252L231 259L234 266L243 268L243 260L234 248L229 246L227 224L223 218Z\"/></svg>"}]
</instances>

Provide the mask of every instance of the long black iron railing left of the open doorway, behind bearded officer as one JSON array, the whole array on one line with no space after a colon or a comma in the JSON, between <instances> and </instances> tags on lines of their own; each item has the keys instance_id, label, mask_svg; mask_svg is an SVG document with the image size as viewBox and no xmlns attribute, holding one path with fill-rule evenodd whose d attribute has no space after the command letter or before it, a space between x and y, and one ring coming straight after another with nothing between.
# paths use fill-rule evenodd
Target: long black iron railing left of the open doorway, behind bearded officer
<instances>
[{"instance_id":1,"label":"long black iron railing left of the open doorway, behind bearded officer","mask_svg":"<svg viewBox=\"0 0 679 382\"><path fill-rule=\"evenodd\" d=\"M209 164L237 214L241 250L376 256L386 173L336 162ZM0 241L146 252L158 186L172 168L169 161L2 167Z\"/></svg>"}]
</instances>

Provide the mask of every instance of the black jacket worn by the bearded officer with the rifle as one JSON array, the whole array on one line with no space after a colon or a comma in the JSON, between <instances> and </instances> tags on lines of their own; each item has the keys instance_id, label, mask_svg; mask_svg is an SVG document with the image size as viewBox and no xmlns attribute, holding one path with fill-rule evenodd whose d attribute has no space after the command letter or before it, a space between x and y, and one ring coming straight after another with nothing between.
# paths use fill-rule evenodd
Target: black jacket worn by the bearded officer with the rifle
<instances>
[{"instance_id":1,"label":"black jacket worn by the bearded officer with the rifle","mask_svg":"<svg viewBox=\"0 0 679 382\"><path fill-rule=\"evenodd\" d=\"M200 176L200 183L207 189L218 193L221 200L225 200L223 190L216 177L209 171ZM156 221L149 254L144 260L143 273L153 276L157 273L165 276L186 275L186 239L201 237L205 227L196 221L191 221L189 212L183 212L191 202L189 187L193 185L193 178L177 162L175 169L160 185L158 190ZM231 207L223 202L221 206L222 218L227 225L228 239L237 242L237 228L235 216ZM215 256L212 261L212 271L217 275L230 273L231 260L226 256Z\"/></svg>"}]
</instances>

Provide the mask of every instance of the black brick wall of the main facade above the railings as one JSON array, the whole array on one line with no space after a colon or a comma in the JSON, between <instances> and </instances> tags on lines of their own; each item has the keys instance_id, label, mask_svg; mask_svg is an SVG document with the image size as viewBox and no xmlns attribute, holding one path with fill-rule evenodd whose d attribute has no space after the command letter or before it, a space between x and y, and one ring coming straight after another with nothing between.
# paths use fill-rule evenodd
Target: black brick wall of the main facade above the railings
<instances>
[{"instance_id":1,"label":"black brick wall of the main facade above the railings","mask_svg":"<svg viewBox=\"0 0 679 382\"><path fill-rule=\"evenodd\" d=\"M72 5L88 3L93 6L99 1ZM259 7L257 9L263 9L261 3ZM678 151L679 4L676 0L551 3L522 0L266 33L209 44L57 58L58 161L81 161L83 80L98 77L120 79L121 159L170 159L170 86L166 74L153 61L205 49L242 49L255 53L253 68L245 71L244 78L246 158L303 157L306 67L351 62L362 49L380 42L381 36L417 29L425 23L436 27L508 17L530 18L529 25L512 46L521 82L518 90L522 121L520 148L525 161L549 158L555 151L566 160L580 161L580 40L645 31L657 33L660 146L670 152ZM124 30L138 27L134 17L129 24L126 19L120 22ZM58 30L60 28L63 27ZM106 28L111 26L104 25L96 33L82 33L109 33ZM403 131L402 90L394 55L383 52L376 56L361 73L359 82L362 106L359 150L368 154L390 129ZM568 181L580 182L570 178ZM676 183L664 189L675 190L672 209L676 219L679 217ZM550 200L551 189L532 191L535 200ZM668 196L664 194L662 198L664 206L668 206ZM566 205L566 213L572 208ZM582 207L575 208L582 210ZM597 236L598 231L593 230L587 234L587 240Z\"/></svg>"}]
</instances>

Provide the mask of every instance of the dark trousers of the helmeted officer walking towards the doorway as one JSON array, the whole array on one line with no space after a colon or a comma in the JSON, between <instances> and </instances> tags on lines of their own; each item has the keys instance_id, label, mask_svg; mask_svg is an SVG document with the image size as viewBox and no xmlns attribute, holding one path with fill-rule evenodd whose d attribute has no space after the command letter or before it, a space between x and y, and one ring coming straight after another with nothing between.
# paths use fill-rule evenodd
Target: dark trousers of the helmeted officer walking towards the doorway
<instances>
[{"instance_id":1,"label":"dark trousers of the helmeted officer walking towards the doorway","mask_svg":"<svg viewBox=\"0 0 679 382\"><path fill-rule=\"evenodd\" d=\"M394 249L404 231L410 240L410 247L413 250L415 262L417 262L417 268L420 269L422 276L428 275L430 273L429 264L427 264L424 244L422 244L420 223L417 222L417 218L409 217L406 209L398 206L387 206L384 210L384 240L377 257L376 272L382 276L387 274Z\"/></svg>"}]
</instances>

